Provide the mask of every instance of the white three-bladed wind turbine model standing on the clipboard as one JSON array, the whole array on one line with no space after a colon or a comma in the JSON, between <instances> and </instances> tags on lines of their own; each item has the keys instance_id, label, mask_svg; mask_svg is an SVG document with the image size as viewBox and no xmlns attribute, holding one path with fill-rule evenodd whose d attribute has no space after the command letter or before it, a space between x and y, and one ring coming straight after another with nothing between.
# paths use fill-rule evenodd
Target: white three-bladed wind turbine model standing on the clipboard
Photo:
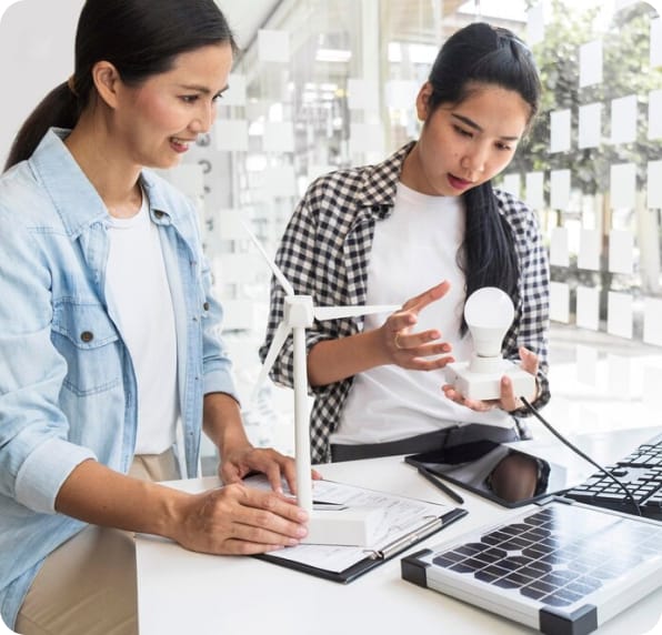
<instances>
[{"instance_id":1,"label":"white three-bladed wind turbine model standing on the clipboard","mask_svg":"<svg viewBox=\"0 0 662 635\"><path fill-rule=\"evenodd\" d=\"M264 251L258 239L244 224L251 240L269 263L275 279L285 292L283 319L273 334L271 346L258 377L255 391L267 379L275 357L290 331L294 344L294 453L297 461L297 501L309 514L308 535L303 542L311 544L368 545L377 532L382 511L365 507L313 508L311 477L310 430L308 421L308 372L305 329L314 320L337 320L372 313L392 313L398 305L373 306L314 306L310 295L298 295L275 262Z\"/></svg>"}]
</instances>

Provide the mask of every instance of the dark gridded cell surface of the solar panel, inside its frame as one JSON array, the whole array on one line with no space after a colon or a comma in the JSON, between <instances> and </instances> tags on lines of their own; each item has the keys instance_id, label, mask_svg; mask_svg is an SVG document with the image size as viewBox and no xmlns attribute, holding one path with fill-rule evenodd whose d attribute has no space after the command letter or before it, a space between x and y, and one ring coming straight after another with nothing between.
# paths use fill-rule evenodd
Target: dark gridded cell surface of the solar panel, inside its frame
<instances>
[{"instance_id":1,"label":"dark gridded cell surface of the solar panel, inside its frame","mask_svg":"<svg viewBox=\"0 0 662 635\"><path fill-rule=\"evenodd\" d=\"M662 553L662 527L559 504L438 552L463 577L565 607Z\"/></svg>"}]
</instances>

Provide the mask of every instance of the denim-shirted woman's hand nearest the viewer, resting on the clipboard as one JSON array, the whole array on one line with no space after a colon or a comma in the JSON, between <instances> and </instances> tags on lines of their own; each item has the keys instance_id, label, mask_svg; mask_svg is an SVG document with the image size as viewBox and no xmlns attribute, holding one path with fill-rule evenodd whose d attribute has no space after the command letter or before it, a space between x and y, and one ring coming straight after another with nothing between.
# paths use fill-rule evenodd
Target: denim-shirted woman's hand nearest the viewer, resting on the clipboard
<instances>
[{"instance_id":1,"label":"denim-shirted woman's hand nearest the viewer, resting on the clipboard","mask_svg":"<svg viewBox=\"0 0 662 635\"><path fill-rule=\"evenodd\" d=\"M308 515L291 498L242 483L180 502L171 537L194 552L251 555L297 545L307 534Z\"/></svg>"}]
</instances>

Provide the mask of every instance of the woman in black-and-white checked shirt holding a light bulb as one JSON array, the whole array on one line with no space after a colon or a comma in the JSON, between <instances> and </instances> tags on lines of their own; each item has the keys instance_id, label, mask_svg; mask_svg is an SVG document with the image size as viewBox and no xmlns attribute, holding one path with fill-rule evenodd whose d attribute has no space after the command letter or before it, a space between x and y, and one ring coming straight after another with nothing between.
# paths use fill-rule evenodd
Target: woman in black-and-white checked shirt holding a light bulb
<instances>
[{"instance_id":1,"label":"woman in black-and-white checked shirt holding a light bulb","mask_svg":"<svg viewBox=\"0 0 662 635\"><path fill-rule=\"evenodd\" d=\"M524 413L508 379L489 403L443 385L443 366L472 350L462 312L482 286L512 298L503 355L536 376L536 394L528 395L534 404L549 401L545 250L533 211L491 185L539 97L538 71L518 38L485 23L465 27L442 47L419 92L419 140L377 165L318 179L299 203L277 254L297 293L318 306L402 305L308 330L314 462L520 436ZM282 314L274 282L262 357ZM290 386L292 352L290 337L271 373Z\"/></svg>"}]
</instances>

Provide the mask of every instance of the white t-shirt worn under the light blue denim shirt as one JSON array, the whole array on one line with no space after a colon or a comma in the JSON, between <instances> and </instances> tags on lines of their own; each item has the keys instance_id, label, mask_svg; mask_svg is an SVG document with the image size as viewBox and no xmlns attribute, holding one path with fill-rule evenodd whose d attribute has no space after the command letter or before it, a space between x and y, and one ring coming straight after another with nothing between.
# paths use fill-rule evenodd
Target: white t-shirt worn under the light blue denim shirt
<instances>
[{"instance_id":1,"label":"white t-shirt worn under the light blue denim shirt","mask_svg":"<svg viewBox=\"0 0 662 635\"><path fill-rule=\"evenodd\" d=\"M138 382L136 454L172 446L179 417L174 313L159 230L142 206L130 219L111 216L106 295Z\"/></svg>"}]
</instances>

